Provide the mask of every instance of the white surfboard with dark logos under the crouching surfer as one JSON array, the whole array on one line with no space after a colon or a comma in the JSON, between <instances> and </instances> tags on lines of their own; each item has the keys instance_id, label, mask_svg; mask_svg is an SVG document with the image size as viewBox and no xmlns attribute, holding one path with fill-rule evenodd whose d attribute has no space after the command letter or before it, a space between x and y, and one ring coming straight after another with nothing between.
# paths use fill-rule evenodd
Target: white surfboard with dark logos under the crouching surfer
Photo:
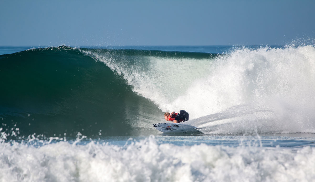
<instances>
[{"instance_id":1,"label":"white surfboard with dark logos under the crouching surfer","mask_svg":"<svg viewBox=\"0 0 315 182\"><path fill-rule=\"evenodd\" d=\"M199 128L181 123L156 123L153 127L163 133L202 133Z\"/></svg>"}]
</instances>

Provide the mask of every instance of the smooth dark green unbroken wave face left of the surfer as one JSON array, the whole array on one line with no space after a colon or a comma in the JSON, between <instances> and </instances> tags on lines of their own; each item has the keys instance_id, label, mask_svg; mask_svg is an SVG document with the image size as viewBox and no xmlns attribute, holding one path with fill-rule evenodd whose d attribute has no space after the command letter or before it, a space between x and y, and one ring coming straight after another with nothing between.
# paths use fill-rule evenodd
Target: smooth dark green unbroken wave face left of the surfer
<instances>
[{"instance_id":1,"label":"smooth dark green unbroken wave face left of the surfer","mask_svg":"<svg viewBox=\"0 0 315 182\"><path fill-rule=\"evenodd\" d=\"M2 128L20 135L135 135L163 119L120 75L71 47L1 55L0 78Z\"/></svg>"}]
</instances>

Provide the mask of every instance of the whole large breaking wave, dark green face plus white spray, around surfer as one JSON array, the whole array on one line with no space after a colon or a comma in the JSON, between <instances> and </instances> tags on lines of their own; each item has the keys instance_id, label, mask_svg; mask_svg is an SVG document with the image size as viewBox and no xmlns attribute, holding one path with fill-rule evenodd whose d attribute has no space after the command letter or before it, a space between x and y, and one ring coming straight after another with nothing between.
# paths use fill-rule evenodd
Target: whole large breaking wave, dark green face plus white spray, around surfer
<instances>
[{"instance_id":1,"label":"whole large breaking wave, dark green face plus white spray, around surfer","mask_svg":"<svg viewBox=\"0 0 315 182\"><path fill-rule=\"evenodd\" d=\"M181 109L205 133L315 133L314 46L229 54L61 46L1 55L0 64L3 128L24 134L154 134L163 112Z\"/></svg>"}]
</instances>

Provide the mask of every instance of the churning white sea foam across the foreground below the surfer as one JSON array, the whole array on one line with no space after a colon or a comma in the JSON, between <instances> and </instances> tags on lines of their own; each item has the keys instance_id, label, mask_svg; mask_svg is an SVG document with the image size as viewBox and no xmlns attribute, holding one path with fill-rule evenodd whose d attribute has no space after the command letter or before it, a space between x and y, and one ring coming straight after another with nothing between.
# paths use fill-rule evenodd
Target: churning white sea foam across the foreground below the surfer
<instances>
[{"instance_id":1,"label":"churning white sea foam across the foreground below the surfer","mask_svg":"<svg viewBox=\"0 0 315 182\"><path fill-rule=\"evenodd\" d=\"M0 143L0 181L313 181L315 149Z\"/></svg>"}]
</instances>

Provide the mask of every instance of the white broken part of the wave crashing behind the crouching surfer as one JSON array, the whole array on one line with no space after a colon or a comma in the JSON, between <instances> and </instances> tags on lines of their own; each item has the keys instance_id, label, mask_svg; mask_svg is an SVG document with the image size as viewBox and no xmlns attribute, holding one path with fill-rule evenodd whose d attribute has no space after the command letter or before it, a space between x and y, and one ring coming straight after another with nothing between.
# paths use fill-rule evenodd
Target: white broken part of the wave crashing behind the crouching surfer
<instances>
[{"instance_id":1,"label":"white broken part of the wave crashing behind the crouching surfer","mask_svg":"<svg viewBox=\"0 0 315 182\"><path fill-rule=\"evenodd\" d=\"M143 57L146 66L141 60L130 66L112 61L112 55L83 52L123 75L133 91L162 111L190 111L189 123L205 131L315 132L313 46L243 48L211 61ZM218 120L216 125L225 126L212 132L207 125Z\"/></svg>"}]
</instances>

